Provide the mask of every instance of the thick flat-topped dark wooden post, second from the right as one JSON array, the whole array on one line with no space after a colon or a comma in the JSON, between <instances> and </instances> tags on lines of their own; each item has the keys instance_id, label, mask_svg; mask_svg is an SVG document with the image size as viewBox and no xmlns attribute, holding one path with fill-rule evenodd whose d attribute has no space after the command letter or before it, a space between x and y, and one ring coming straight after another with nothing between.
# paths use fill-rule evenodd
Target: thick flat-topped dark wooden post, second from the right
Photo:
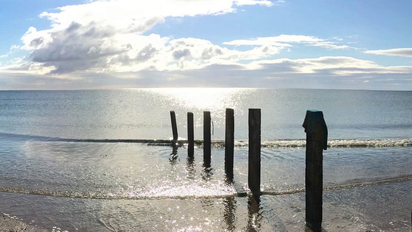
<instances>
[{"instance_id":1,"label":"thick flat-topped dark wooden post, second from the right","mask_svg":"<svg viewBox=\"0 0 412 232\"><path fill-rule=\"evenodd\" d=\"M260 192L260 109L249 109L248 185L252 193Z\"/></svg>"}]
</instances>

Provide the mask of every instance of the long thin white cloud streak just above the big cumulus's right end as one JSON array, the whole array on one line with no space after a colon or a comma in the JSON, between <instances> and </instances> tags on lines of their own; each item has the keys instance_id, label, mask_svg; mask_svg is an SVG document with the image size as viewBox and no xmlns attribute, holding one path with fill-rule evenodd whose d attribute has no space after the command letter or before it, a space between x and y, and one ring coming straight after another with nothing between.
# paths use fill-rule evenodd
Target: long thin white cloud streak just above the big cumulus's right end
<instances>
[{"instance_id":1,"label":"long thin white cloud streak just above the big cumulus's right end","mask_svg":"<svg viewBox=\"0 0 412 232\"><path fill-rule=\"evenodd\" d=\"M274 45L279 47L290 47L289 44L282 44L279 42L291 42L291 43L314 43L321 42L315 36L307 35L278 35L273 37L258 37L250 40L233 40L229 42L223 42L224 45Z\"/></svg>"}]
</instances>

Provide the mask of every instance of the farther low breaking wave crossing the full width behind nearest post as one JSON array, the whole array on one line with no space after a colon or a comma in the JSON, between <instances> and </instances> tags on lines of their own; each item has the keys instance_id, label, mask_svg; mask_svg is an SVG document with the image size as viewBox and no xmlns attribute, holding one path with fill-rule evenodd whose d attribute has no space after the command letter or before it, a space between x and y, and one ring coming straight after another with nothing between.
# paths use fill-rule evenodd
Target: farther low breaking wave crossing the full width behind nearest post
<instances>
[{"instance_id":1,"label":"farther low breaking wave crossing the full width behind nearest post","mask_svg":"<svg viewBox=\"0 0 412 232\"><path fill-rule=\"evenodd\" d=\"M72 143L145 143L147 145L170 146L187 145L187 140L173 141L169 139L92 139L92 138L59 138L36 135L22 135L0 132L1 137L10 140L43 141L43 142L72 142ZM225 141L211 141L214 148L224 148ZM195 140L194 145L201 147L202 140ZM236 147L247 147L248 141L235 141ZM305 139L262 140L264 148L299 148L306 146ZM382 138L382 139L328 139L328 147L336 148L382 148L412 146L412 138Z\"/></svg>"}]
</instances>

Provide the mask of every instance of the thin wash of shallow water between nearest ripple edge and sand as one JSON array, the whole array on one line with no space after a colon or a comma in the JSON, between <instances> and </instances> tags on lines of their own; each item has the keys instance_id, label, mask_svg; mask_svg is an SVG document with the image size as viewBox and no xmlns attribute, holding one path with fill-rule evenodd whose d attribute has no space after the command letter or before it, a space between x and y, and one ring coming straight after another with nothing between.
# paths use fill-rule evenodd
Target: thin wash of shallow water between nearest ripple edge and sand
<instances>
[{"instance_id":1,"label":"thin wash of shallow water between nearest ripple edge and sand","mask_svg":"<svg viewBox=\"0 0 412 232\"><path fill-rule=\"evenodd\" d=\"M410 231L412 181L323 194L324 231ZM305 231L304 193L188 199L94 199L2 192L2 209L69 231ZM309 230L307 230L309 231Z\"/></svg>"}]
</instances>

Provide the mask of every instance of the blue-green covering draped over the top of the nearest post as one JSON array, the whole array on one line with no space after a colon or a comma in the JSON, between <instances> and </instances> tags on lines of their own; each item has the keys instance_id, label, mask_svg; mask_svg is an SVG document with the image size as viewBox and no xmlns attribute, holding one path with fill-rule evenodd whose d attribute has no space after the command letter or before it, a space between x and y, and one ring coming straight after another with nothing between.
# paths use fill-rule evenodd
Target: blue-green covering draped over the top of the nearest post
<instances>
[{"instance_id":1,"label":"blue-green covering draped over the top of the nearest post","mask_svg":"<svg viewBox=\"0 0 412 232\"><path fill-rule=\"evenodd\" d=\"M305 129L305 133L313 133L315 125L321 124L323 134L323 150L328 148L328 127L326 126L325 119L323 118L323 112L320 110L307 110L305 120L302 127Z\"/></svg>"}]
</instances>

